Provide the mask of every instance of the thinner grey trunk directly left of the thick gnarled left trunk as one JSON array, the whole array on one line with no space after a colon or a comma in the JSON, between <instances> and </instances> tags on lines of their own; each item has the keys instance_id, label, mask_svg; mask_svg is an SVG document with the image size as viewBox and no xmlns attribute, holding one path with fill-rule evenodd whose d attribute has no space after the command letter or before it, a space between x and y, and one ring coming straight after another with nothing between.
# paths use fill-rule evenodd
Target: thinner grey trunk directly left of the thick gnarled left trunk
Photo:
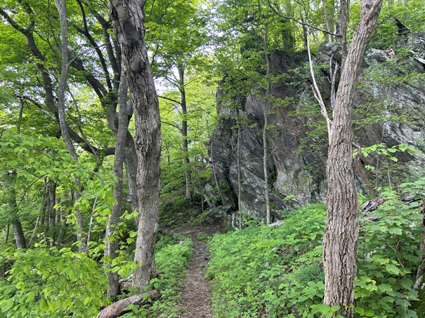
<instances>
[{"instance_id":1,"label":"thinner grey trunk directly left of the thick gnarled left trunk","mask_svg":"<svg viewBox=\"0 0 425 318\"><path fill-rule=\"evenodd\" d=\"M112 207L110 218L107 221L106 228L106 242L105 242L105 255L109 256L112 261L117 257L117 249L119 248L119 237L117 237L116 231L118 230L117 224L119 218L122 215L122 179L123 174L123 163L124 163L124 146L126 144L126 134L129 127L129 118L127 116L127 84L126 76L124 71L121 74L121 83L119 84L118 90L118 104L119 104L119 117L118 117L118 130L117 130L117 143L115 146L114 156L114 176L116 178L114 188L115 205ZM107 262L107 265L110 265ZM107 296L115 297L119 291L119 276L117 272L108 272L109 289L107 290Z\"/></svg>"}]
</instances>

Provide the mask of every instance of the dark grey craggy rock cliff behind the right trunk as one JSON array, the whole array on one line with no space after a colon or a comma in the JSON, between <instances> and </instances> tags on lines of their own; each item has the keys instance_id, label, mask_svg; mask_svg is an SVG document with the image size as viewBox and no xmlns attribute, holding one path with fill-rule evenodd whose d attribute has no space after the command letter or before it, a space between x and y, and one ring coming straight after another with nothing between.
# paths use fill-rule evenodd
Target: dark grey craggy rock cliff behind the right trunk
<instances>
[{"instance_id":1,"label":"dark grey craggy rock cliff behind the right trunk","mask_svg":"<svg viewBox=\"0 0 425 318\"><path fill-rule=\"evenodd\" d=\"M395 57L384 50L369 50L365 69L355 97L357 143L361 147L384 143L388 146L407 144L415 153L398 153L398 165L410 163L419 167L424 162L425 119L425 34L414 34L405 40L406 48L395 51ZM329 64L337 56L335 46L322 46L318 60ZM282 210L294 209L312 202L321 202L327 188L325 165L327 134L320 109L312 96L308 74L294 72L305 63L303 57L289 57L276 52L270 56L274 75L287 74L285 81L271 85L275 102L268 115L268 177L272 213L279 218ZM327 71L318 74L322 95L329 102L330 85ZM225 92L219 91L218 95ZM242 101L238 111L240 130L237 130L235 111L219 102L220 124L210 139L211 174L220 186L216 193L228 211L242 210L256 219L265 219L263 175L263 104L258 94ZM277 106L280 104L280 106ZM328 109L329 113L332 110ZM239 142L239 147L238 147ZM238 151L240 183L238 182ZM380 167L385 158L376 155L360 156L358 160L359 191L380 179ZM381 160L381 161L379 161ZM373 166L375 170L366 170ZM239 191L239 186L241 191ZM240 198L238 195L240 193ZM239 199L239 200L238 200ZM240 206L238 206L240 204ZM228 209L231 206L232 209Z\"/></svg>"}]
</instances>

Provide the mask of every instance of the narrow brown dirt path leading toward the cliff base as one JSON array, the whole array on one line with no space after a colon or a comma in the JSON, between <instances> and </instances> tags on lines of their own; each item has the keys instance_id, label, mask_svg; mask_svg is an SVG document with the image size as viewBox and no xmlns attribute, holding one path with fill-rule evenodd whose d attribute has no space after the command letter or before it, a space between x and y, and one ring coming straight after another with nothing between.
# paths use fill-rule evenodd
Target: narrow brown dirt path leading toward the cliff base
<instances>
[{"instance_id":1,"label":"narrow brown dirt path leading toward the cliff base","mask_svg":"<svg viewBox=\"0 0 425 318\"><path fill-rule=\"evenodd\" d=\"M192 262L188 268L188 277L181 295L181 308L183 313L180 318L212 318L211 291L209 282L205 277L209 251L207 238L215 233L223 233L221 226L199 226L182 228L176 232L190 237L193 242ZM200 240L201 239L201 240Z\"/></svg>"}]
</instances>

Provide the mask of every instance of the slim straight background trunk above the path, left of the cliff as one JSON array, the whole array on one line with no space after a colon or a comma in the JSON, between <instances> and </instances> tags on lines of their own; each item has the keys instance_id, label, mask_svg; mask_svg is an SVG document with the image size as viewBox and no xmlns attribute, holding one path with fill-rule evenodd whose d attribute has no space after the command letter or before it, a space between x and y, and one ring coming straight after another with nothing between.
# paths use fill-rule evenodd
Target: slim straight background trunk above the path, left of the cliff
<instances>
[{"instance_id":1,"label":"slim straight background trunk above the path, left of the cliff","mask_svg":"<svg viewBox=\"0 0 425 318\"><path fill-rule=\"evenodd\" d=\"M188 154L188 105L186 104L185 90L185 69L178 67L178 84L181 97L181 138L183 149L183 165L185 170L185 198L190 200L190 174L189 174L189 154Z\"/></svg>"}]
</instances>

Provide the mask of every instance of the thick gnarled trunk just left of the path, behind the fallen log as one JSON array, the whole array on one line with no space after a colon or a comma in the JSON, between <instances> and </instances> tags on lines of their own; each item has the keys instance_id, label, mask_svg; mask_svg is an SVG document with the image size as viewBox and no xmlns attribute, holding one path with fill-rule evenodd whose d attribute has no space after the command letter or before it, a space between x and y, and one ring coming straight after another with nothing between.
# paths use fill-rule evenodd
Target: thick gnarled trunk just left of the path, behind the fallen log
<instances>
[{"instance_id":1,"label":"thick gnarled trunk just left of the path, behind the fallen log","mask_svg":"<svg viewBox=\"0 0 425 318\"><path fill-rule=\"evenodd\" d=\"M122 50L136 125L139 223L134 261L141 265L133 273L133 287L138 289L149 284L156 270L161 155L159 103L145 46L144 5L144 0L110 0L112 23Z\"/></svg>"}]
</instances>

